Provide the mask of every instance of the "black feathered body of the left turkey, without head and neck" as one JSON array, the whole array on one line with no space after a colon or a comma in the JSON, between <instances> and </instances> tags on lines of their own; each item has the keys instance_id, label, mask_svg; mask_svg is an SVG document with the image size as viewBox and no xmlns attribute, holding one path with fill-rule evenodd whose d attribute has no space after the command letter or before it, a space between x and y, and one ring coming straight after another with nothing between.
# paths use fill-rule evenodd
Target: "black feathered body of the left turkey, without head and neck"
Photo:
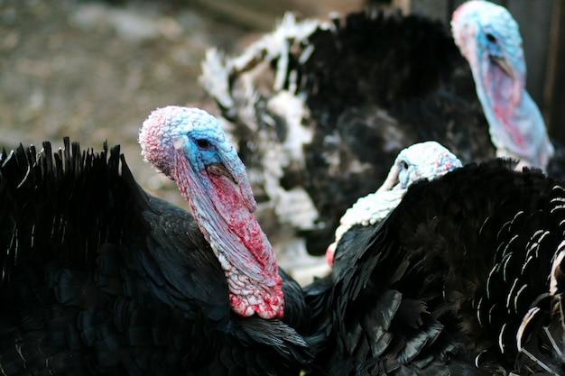
<instances>
[{"instance_id":1,"label":"black feathered body of the left turkey, without head and neck","mask_svg":"<svg viewBox=\"0 0 565 376\"><path fill-rule=\"evenodd\" d=\"M119 147L20 147L0 160L5 375L299 374L301 290L284 322L230 308L190 213L144 192ZM296 329L296 330L295 330Z\"/></svg>"}]
</instances>

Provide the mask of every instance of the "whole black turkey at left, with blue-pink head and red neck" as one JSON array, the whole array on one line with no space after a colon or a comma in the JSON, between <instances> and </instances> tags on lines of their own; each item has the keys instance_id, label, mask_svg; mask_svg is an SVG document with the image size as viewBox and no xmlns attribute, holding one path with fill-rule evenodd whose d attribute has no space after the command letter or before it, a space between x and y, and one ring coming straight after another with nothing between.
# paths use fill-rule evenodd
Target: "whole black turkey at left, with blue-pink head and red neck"
<instances>
[{"instance_id":1,"label":"whole black turkey at left, with blue-pink head and red neck","mask_svg":"<svg viewBox=\"0 0 565 376\"><path fill-rule=\"evenodd\" d=\"M118 146L0 154L3 375L298 375L310 313L252 214L211 115L154 111L144 158L193 216L145 193Z\"/></svg>"}]
</instances>

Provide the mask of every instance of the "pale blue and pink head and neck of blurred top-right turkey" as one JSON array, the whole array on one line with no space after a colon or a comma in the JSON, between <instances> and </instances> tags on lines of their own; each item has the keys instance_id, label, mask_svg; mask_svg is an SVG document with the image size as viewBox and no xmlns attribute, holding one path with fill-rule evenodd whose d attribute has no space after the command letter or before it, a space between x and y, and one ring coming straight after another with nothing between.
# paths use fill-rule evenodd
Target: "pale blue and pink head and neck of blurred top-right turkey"
<instances>
[{"instance_id":1,"label":"pale blue and pink head and neck of blurred top-right turkey","mask_svg":"<svg viewBox=\"0 0 565 376\"><path fill-rule=\"evenodd\" d=\"M497 155L545 169L553 146L525 90L522 37L512 15L500 5L473 0L458 7L451 29L473 72Z\"/></svg>"}]
</instances>

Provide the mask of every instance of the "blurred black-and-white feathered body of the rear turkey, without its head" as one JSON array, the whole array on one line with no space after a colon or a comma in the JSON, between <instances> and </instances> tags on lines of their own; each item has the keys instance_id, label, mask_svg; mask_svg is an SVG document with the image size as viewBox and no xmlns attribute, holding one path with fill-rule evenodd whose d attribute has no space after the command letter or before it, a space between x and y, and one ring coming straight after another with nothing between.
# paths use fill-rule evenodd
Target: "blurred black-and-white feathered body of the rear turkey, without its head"
<instances>
[{"instance_id":1,"label":"blurred black-and-white feathered body of the rear turkey, without its head","mask_svg":"<svg viewBox=\"0 0 565 376\"><path fill-rule=\"evenodd\" d=\"M418 15L285 14L239 56L208 50L200 82L249 171L258 219L285 252L325 252L347 207L413 143L438 141L463 162L496 155L447 25Z\"/></svg>"}]
</instances>

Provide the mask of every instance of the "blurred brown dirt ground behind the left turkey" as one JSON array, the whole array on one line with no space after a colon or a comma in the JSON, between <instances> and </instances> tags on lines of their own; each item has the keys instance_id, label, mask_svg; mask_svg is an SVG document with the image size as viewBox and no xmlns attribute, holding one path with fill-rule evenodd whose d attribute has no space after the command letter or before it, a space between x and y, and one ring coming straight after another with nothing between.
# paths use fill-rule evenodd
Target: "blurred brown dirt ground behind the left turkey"
<instances>
[{"instance_id":1,"label":"blurred brown dirt ground behind the left turkey","mask_svg":"<svg viewBox=\"0 0 565 376\"><path fill-rule=\"evenodd\" d=\"M136 142L163 105L214 106L199 87L205 50L238 48L250 31L172 2L0 0L0 146L62 137L121 144L135 178L184 205Z\"/></svg>"}]
</instances>

